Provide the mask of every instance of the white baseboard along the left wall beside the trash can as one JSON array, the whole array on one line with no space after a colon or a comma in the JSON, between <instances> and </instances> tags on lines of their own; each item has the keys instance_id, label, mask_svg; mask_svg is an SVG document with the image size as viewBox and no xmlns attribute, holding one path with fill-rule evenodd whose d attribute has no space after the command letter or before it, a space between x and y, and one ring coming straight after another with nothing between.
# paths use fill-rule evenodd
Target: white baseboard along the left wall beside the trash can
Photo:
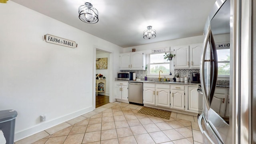
<instances>
[{"instance_id":1,"label":"white baseboard along the left wall beside the trash can","mask_svg":"<svg viewBox=\"0 0 256 144\"><path fill-rule=\"evenodd\" d=\"M23 138L26 138L28 136L32 136L33 134L36 134L38 132L42 132L48 128L51 128L53 126L56 126L63 122L66 122L68 120L71 120L73 118L76 118L76 117L86 114L88 112L91 112L92 110L94 110L94 108L91 106L89 108L85 108L85 109L79 110L77 112L67 114L66 116L62 116L62 117L56 118L54 120L43 122L43 123L33 126L31 128L27 128L26 130L16 132L14 134L14 142L17 142L18 140L22 140Z\"/></svg>"}]
</instances>

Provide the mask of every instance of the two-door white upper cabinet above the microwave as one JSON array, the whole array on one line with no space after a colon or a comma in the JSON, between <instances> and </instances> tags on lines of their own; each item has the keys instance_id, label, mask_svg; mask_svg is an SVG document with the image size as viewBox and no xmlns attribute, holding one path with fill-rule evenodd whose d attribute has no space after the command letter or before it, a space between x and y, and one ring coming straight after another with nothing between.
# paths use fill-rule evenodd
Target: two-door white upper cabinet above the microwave
<instances>
[{"instance_id":1,"label":"two-door white upper cabinet above the microwave","mask_svg":"<svg viewBox=\"0 0 256 144\"><path fill-rule=\"evenodd\" d=\"M120 70L145 70L146 55L143 52L120 54Z\"/></svg>"}]
</instances>

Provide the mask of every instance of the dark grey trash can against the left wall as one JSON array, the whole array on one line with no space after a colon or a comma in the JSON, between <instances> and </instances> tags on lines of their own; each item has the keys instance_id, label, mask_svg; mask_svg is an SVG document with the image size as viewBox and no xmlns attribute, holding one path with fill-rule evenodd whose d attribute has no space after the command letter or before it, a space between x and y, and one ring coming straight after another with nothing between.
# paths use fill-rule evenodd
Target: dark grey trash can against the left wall
<instances>
[{"instance_id":1,"label":"dark grey trash can against the left wall","mask_svg":"<svg viewBox=\"0 0 256 144\"><path fill-rule=\"evenodd\" d=\"M4 133L6 144L14 144L15 110L0 110L0 130Z\"/></svg>"}]
</instances>

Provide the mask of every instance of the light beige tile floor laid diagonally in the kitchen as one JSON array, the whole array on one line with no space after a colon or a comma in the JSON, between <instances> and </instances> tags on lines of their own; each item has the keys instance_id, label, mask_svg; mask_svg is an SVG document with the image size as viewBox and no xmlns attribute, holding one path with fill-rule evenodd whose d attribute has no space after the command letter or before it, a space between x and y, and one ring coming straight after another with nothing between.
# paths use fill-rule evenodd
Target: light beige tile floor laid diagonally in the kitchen
<instances>
[{"instance_id":1,"label":"light beige tile floor laid diagonally in the kitchen","mask_svg":"<svg viewBox=\"0 0 256 144\"><path fill-rule=\"evenodd\" d=\"M108 103L15 144L200 144L197 117L172 112L170 119L137 113L142 106Z\"/></svg>"}]
</instances>

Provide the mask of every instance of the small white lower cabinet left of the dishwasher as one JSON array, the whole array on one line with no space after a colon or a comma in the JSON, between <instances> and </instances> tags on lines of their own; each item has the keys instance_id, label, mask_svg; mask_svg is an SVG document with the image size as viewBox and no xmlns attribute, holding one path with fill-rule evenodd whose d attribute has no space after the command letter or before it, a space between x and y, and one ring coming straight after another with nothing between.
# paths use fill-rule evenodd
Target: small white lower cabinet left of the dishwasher
<instances>
[{"instance_id":1,"label":"small white lower cabinet left of the dishwasher","mask_svg":"<svg viewBox=\"0 0 256 144\"><path fill-rule=\"evenodd\" d=\"M128 101L128 82L116 82L115 98Z\"/></svg>"}]
</instances>

